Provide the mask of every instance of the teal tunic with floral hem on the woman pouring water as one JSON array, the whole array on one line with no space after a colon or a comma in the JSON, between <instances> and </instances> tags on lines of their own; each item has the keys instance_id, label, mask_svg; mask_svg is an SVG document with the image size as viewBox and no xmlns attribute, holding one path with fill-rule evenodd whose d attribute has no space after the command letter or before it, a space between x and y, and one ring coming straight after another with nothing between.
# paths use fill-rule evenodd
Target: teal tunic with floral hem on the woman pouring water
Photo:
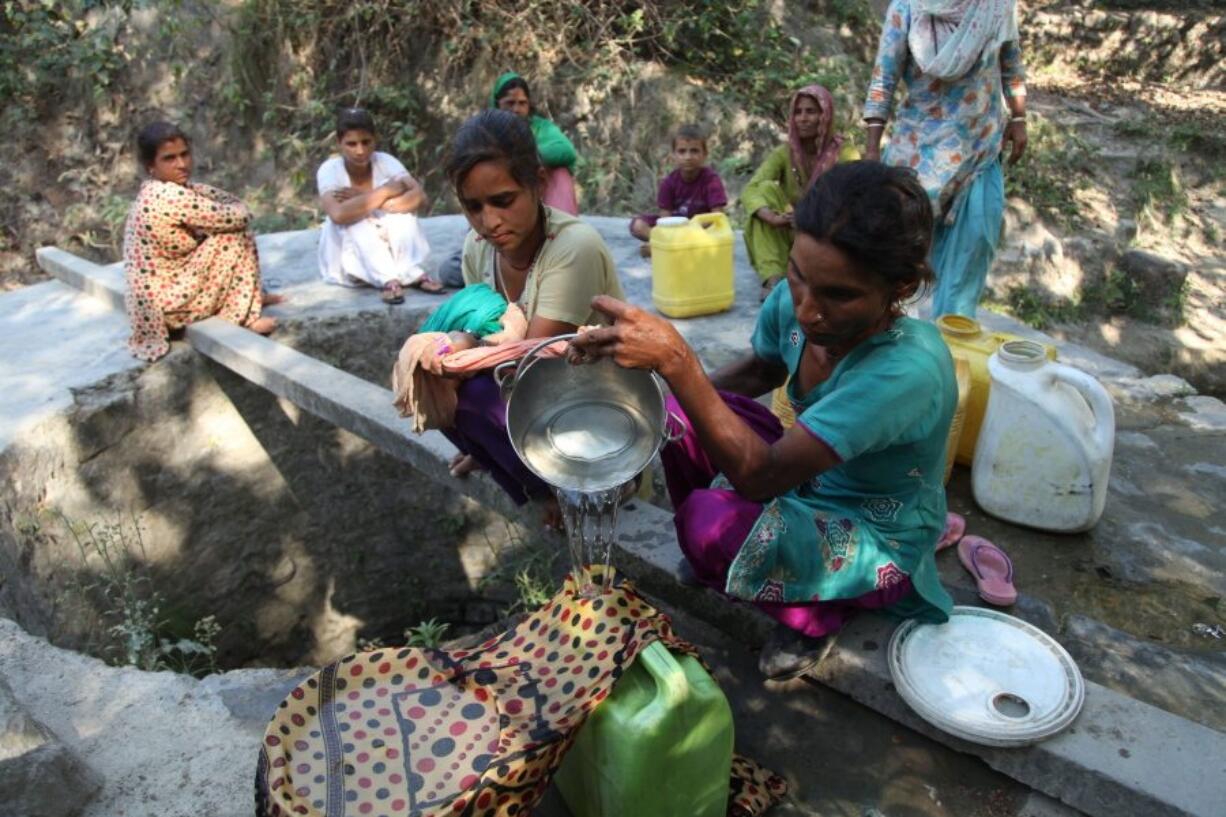
<instances>
[{"instance_id":1,"label":"teal tunic with floral hem on the woman pouring water","mask_svg":"<svg viewBox=\"0 0 1226 817\"><path fill-rule=\"evenodd\" d=\"M937 574L945 520L945 438L958 402L954 364L935 326L911 318L855 347L798 394L804 353L792 293L775 287L758 316L754 355L787 367L796 422L841 460L766 503L728 570L752 601L855 599L910 579L890 607L944 621L953 601ZM722 476L714 488L731 487Z\"/></svg>"}]
</instances>

